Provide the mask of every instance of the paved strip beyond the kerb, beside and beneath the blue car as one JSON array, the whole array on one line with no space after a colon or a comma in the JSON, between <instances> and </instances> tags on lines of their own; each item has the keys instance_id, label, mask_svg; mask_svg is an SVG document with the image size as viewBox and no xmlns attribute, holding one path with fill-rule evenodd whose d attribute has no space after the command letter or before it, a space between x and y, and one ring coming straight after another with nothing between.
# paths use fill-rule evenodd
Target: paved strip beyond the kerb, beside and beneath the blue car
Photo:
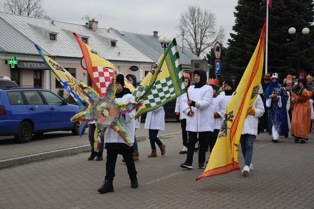
<instances>
[{"instance_id":1,"label":"paved strip beyond the kerb, beside and beneath the blue car","mask_svg":"<svg viewBox=\"0 0 314 209\"><path fill-rule=\"evenodd\" d=\"M141 128L136 130L137 138L146 138L146 136L148 136L148 130L144 129L144 124L145 123L141 123ZM181 131L180 123L166 122L166 130L160 131L159 135L179 131ZM71 131L44 133L42 136L34 135L32 140L25 144L15 142L13 136L0 136L0 160L85 144L89 144L88 129L86 129L82 137L73 136Z\"/></svg>"}]
</instances>

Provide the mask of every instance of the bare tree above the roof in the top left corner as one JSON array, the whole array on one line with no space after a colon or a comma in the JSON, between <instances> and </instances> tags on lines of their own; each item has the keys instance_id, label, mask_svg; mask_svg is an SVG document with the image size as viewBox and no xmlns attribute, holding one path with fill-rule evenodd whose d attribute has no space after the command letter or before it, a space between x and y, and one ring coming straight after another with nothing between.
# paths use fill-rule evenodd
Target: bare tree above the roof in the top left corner
<instances>
[{"instance_id":1,"label":"bare tree above the roof in the top left corner","mask_svg":"<svg viewBox=\"0 0 314 209\"><path fill-rule=\"evenodd\" d=\"M13 14L51 19L42 7L45 0L5 0L1 5L4 11Z\"/></svg>"}]
</instances>

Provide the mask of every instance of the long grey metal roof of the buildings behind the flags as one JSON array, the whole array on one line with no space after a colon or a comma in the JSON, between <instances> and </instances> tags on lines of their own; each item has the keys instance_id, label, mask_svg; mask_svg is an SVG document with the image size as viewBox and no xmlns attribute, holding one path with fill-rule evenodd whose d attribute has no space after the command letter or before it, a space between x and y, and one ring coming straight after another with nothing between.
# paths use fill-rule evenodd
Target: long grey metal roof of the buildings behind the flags
<instances>
[{"instance_id":1,"label":"long grey metal roof of the buildings behind the flags","mask_svg":"<svg viewBox=\"0 0 314 209\"><path fill-rule=\"evenodd\" d=\"M114 29L93 30L84 25L10 13L0 12L0 28L0 50L12 53L37 55L34 46L37 44L47 55L82 57L73 32L79 37L88 37L89 46L108 60L154 63L163 52L158 37L153 35L120 32ZM46 37L49 33L56 33L57 41L49 40L49 37ZM107 44L107 39L116 40L116 47ZM180 46L178 50L183 65L190 65L192 59L200 59L186 49L182 53Z\"/></svg>"}]
</instances>

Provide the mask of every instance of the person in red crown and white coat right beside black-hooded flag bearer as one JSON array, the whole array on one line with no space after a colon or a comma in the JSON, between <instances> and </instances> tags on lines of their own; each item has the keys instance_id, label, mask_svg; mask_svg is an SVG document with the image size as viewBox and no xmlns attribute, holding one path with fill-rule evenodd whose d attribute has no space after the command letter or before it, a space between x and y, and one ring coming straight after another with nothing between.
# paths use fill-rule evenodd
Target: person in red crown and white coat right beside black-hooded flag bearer
<instances>
[{"instance_id":1,"label":"person in red crown and white coat right beside black-hooded flag bearer","mask_svg":"<svg viewBox=\"0 0 314 209\"><path fill-rule=\"evenodd\" d=\"M216 79L209 79L208 85L213 87L213 104L214 104L214 131L209 132L207 149L209 147L210 153L212 152L216 143L219 130L221 128L222 120L225 117L227 103L223 96L218 93L219 81Z\"/></svg>"}]
</instances>

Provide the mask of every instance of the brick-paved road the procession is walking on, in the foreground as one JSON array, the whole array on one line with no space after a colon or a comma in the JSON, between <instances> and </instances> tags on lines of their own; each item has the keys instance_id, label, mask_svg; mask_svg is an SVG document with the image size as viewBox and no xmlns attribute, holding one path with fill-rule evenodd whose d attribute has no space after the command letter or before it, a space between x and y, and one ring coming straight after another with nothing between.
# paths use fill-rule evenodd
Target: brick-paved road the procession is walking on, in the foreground
<instances>
[{"instance_id":1,"label":"brick-paved road the procession is walking on, in the foreground","mask_svg":"<svg viewBox=\"0 0 314 209\"><path fill-rule=\"evenodd\" d=\"M103 161L87 161L88 153L53 158L0 169L1 209L94 209L94 208L314 208L314 143L296 144L289 137L271 142L261 133L254 143L254 170L195 179L203 172L185 170L186 155L181 135L161 138L166 154L147 158L148 140L140 142L140 160L135 162L139 187L131 189L127 169L118 155L114 192L99 194L106 167ZM239 153L239 163L244 159ZM209 153L207 153L208 155Z\"/></svg>"}]
</instances>

